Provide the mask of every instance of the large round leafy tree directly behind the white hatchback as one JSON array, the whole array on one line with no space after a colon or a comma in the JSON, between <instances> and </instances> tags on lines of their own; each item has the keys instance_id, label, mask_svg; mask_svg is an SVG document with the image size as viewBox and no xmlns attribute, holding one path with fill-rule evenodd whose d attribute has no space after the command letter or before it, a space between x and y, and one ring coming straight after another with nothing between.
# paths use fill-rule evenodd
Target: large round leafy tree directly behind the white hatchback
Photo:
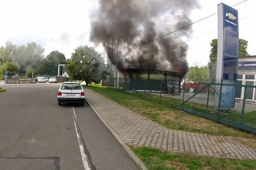
<instances>
[{"instance_id":1,"label":"large round leafy tree directly behind the white hatchback","mask_svg":"<svg viewBox=\"0 0 256 170\"><path fill-rule=\"evenodd\" d=\"M104 64L104 60L102 61L101 54L98 54L99 53L92 47L77 47L75 53L72 53L71 58L68 59L68 74L71 75L74 80L85 81L86 86L92 82L99 83L101 72L98 68L100 64Z\"/></svg>"}]
</instances>

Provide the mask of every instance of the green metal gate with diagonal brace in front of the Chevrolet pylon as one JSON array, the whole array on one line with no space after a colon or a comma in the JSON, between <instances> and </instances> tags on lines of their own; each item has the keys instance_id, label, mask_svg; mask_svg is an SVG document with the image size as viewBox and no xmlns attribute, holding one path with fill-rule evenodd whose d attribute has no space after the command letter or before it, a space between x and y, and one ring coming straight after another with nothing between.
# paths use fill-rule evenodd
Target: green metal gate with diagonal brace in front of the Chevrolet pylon
<instances>
[{"instance_id":1,"label":"green metal gate with diagonal brace in front of the Chevrolet pylon","mask_svg":"<svg viewBox=\"0 0 256 170\"><path fill-rule=\"evenodd\" d=\"M255 80L237 82L204 80L197 83L200 84L200 88L197 88L195 93L186 92L188 90L185 88L188 89L189 84L195 88L194 83L184 82L183 99L178 109L219 123L256 132ZM234 96L235 100L233 100ZM188 109L186 103L199 104L201 109Z\"/></svg>"}]
</instances>

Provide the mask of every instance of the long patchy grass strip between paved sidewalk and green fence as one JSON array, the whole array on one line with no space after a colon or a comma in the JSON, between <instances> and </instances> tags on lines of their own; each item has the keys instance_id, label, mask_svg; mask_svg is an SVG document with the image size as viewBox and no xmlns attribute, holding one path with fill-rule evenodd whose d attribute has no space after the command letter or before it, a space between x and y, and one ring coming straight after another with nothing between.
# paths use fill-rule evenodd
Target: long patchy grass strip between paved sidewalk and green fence
<instances>
[{"instance_id":1,"label":"long patchy grass strip between paved sidewalk and green fence","mask_svg":"<svg viewBox=\"0 0 256 170\"><path fill-rule=\"evenodd\" d=\"M224 124L218 124L212 120L205 119L196 115L186 113L176 109L181 103L180 100L162 97L161 104L159 104L159 96L144 93L116 90L110 91L105 87L92 87L95 92L135 111L136 113L151 119L163 126L182 131L190 131L196 133L222 135L222 136L236 136L244 138L255 138L252 133L239 131ZM205 111L205 106L195 103L186 103L184 107L200 112Z\"/></svg>"}]
</instances>

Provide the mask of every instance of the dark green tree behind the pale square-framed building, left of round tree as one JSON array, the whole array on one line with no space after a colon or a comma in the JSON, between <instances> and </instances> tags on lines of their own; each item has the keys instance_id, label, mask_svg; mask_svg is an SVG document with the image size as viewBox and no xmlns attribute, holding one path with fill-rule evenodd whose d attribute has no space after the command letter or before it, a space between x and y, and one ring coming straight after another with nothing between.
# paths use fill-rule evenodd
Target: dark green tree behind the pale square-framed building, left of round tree
<instances>
[{"instance_id":1,"label":"dark green tree behind the pale square-framed building, left of round tree","mask_svg":"<svg viewBox=\"0 0 256 170\"><path fill-rule=\"evenodd\" d=\"M65 55L59 51L52 51L44 60L44 73L47 75L57 75L59 64L67 64Z\"/></svg>"}]
</instances>

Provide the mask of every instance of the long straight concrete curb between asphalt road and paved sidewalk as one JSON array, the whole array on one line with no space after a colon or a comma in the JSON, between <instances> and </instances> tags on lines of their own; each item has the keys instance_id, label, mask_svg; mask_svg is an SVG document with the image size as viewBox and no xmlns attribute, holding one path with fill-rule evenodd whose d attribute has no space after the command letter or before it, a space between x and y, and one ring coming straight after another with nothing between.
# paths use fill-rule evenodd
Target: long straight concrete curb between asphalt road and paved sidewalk
<instances>
[{"instance_id":1,"label":"long straight concrete curb between asphalt road and paved sidewalk","mask_svg":"<svg viewBox=\"0 0 256 170\"><path fill-rule=\"evenodd\" d=\"M92 110L96 113L96 115L100 118L100 121L106 126L108 131L114 136L114 138L117 140L117 142L122 146L124 151L129 155L129 157L133 160L133 162L138 166L140 170L148 170L144 163L135 155L135 153L132 152L132 150L129 148L128 145L125 144L123 139L121 139L117 133L112 129L112 127L104 120L103 117L101 117L100 113L95 110L95 108L92 106L92 104L85 98L85 101L89 104L89 106L92 108Z\"/></svg>"}]
</instances>

